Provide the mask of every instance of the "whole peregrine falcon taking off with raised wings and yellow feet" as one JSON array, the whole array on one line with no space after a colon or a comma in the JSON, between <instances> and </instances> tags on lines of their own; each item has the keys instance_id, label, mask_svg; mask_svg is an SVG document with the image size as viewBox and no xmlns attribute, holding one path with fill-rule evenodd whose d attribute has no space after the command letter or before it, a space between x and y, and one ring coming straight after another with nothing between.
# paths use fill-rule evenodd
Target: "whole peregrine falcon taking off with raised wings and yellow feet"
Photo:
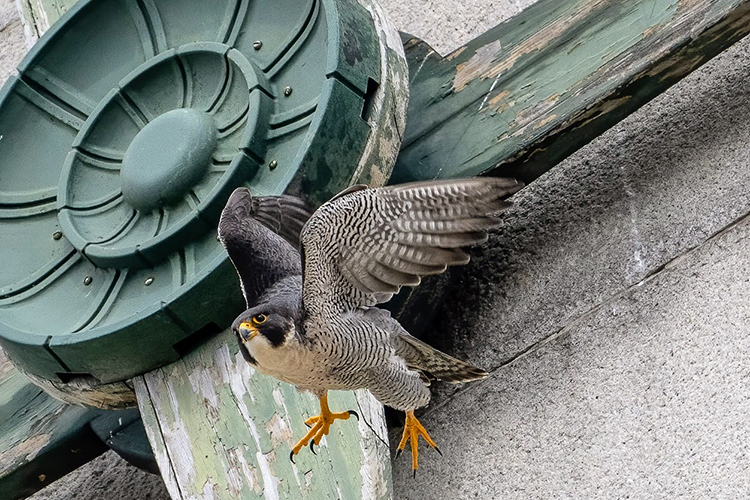
<instances>
[{"instance_id":1,"label":"whole peregrine falcon taking off with raised wings and yellow feet","mask_svg":"<svg viewBox=\"0 0 750 500\"><path fill-rule=\"evenodd\" d=\"M484 241L522 186L502 178L353 186L312 215L298 198L232 193L219 237L248 307L232 325L240 350L261 373L320 400L292 460L308 443L318 445L335 420L354 414L332 412L329 390L368 389L405 411L397 453L411 440L415 473L419 436L437 449L414 416L430 400L429 381L488 374L413 337L376 306L422 276L466 264L461 247Z\"/></svg>"}]
</instances>

